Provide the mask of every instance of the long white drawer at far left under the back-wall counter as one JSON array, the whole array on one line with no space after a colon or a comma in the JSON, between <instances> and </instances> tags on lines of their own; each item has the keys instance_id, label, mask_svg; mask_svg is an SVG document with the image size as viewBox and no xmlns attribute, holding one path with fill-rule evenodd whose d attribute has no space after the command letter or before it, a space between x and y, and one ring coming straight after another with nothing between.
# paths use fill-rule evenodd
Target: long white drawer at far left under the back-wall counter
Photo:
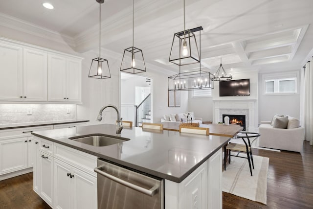
<instances>
[{"instance_id":1,"label":"long white drawer at far left under the back-wall counter","mask_svg":"<svg viewBox=\"0 0 313 209\"><path fill-rule=\"evenodd\" d=\"M49 125L49 126L34 126L34 127L27 127L27 128L14 128L14 129L0 130L0 139L10 139L10 138L16 138L16 137L30 136L31 132L51 130L52 128L53 126Z\"/></svg>"}]
</instances>

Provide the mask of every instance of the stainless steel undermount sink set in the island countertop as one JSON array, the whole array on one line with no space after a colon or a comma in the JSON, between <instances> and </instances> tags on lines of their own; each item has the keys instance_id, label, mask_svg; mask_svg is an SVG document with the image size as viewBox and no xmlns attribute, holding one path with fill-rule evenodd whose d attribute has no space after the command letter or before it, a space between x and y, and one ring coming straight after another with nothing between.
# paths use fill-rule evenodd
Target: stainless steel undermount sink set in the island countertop
<instances>
[{"instance_id":1,"label":"stainless steel undermount sink set in the island countertop","mask_svg":"<svg viewBox=\"0 0 313 209\"><path fill-rule=\"evenodd\" d=\"M112 144L130 140L127 138L115 137L115 136L110 136L110 135L102 135L102 134L71 137L68 139L79 141L81 143L89 144L92 146L109 146Z\"/></svg>"}]
</instances>

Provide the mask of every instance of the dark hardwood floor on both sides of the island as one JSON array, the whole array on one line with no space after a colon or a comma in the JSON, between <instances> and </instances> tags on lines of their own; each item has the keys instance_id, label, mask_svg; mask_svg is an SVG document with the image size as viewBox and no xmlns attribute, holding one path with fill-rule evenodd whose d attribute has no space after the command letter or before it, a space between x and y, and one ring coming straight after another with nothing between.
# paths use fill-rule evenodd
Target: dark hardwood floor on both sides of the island
<instances>
[{"instance_id":1,"label":"dark hardwood floor on both sides of the island","mask_svg":"<svg viewBox=\"0 0 313 209\"><path fill-rule=\"evenodd\" d=\"M313 146L301 153L253 149L269 158L267 205L223 192L223 209L312 209ZM0 209L50 209L33 191L33 173L0 181Z\"/></svg>"}]
</instances>

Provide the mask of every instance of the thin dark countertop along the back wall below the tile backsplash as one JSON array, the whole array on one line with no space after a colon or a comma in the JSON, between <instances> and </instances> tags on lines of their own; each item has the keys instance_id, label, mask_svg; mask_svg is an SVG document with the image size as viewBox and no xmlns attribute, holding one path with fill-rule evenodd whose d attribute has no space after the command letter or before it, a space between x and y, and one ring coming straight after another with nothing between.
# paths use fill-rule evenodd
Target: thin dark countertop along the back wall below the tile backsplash
<instances>
[{"instance_id":1,"label":"thin dark countertop along the back wall below the tile backsplash","mask_svg":"<svg viewBox=\"0 0 313 209\"><path fill-rule=\"evenodd\" d=\"M59 125L59 124L67 124L67 123L82 123L89 122L89 120L51 120L51 121L40 121L40 122L28 122L28 123L11 123L11 124L3 124L0 125L0 130L3 129L13 129L13 128L27 128L34 126L45 126L45 125Z\"/></svg>"}]
</instances>

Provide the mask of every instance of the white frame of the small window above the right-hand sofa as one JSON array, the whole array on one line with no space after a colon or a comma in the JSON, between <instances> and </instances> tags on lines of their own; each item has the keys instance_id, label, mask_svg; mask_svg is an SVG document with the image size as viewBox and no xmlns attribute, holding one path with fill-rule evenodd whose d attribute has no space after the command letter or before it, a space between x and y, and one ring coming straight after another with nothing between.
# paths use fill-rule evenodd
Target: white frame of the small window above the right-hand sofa
<instances>
[{"instance_id":1,"label":"white frame of the small window above the right-hand sofa","mask_svg":"<svg viewBox=\"0 0 313 209\"><path fill-rule=\"evenodd\" d=\"M279 81L286 81L286 80L295 80L295 92L288 92L288 93L281 93L279 92ZM281 73L271 73L271 74L263 74L262 75L262 86L263 86L263 93L262 95L295 95L299 94L299 72L298 71L291 71L291 72L281 72ZM266 92L266 82L273 81L274 82L274 92L267 93Z\"/></svg>"}]
</instances>

